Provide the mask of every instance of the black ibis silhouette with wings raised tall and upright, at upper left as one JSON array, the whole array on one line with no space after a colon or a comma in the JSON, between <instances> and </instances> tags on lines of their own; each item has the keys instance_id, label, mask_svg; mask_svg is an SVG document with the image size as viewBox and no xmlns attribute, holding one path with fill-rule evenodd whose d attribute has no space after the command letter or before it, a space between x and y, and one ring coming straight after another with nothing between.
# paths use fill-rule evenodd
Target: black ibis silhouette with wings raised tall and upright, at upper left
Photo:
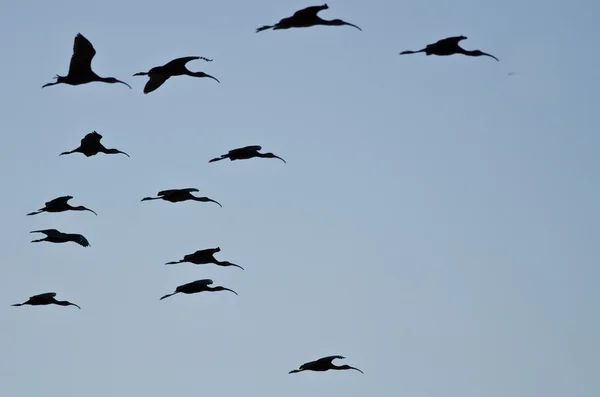
<instances>
[{"instance_id":1,"label":"black ibis silhouette with wings raised tall and upright, at upper left","mask_svg":"<svg viewBox=\"0 0 600 397\"><path fill-rule=\"evenodd\" d=\"M69 73L66 76L56 75L56 77L54 77L56 82L44 84L42 88L61 83L80 85L91 83L93 81L121 83L131 88L131 86L124 81L117 80L114 77L100 77L94 73L92 70L92 59L94 58L94 55L96 55L96 50L92 43L83 37L81 33L77 33L73 43L73 55L71 56Z\"/></svg>"}]
</instances>

